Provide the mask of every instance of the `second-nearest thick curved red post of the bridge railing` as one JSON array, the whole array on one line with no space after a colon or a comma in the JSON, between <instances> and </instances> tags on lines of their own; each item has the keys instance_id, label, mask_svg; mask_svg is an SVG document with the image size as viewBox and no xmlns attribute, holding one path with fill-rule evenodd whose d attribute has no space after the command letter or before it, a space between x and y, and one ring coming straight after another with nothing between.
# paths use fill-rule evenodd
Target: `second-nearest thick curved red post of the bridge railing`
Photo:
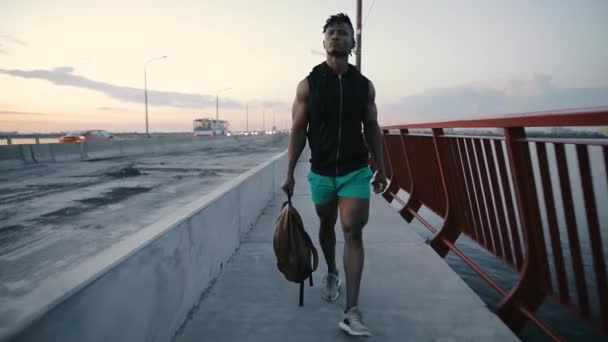
<instances>
[{"instance_id":1,"label":"second-nearest thick curved red post of the bridge railing","mask_svg":"<svg viewBox=\"0 0 608 342\"><path fill-rule=\"evenodd\" d=\"M443 194L445 197L445 215L443 217L443 226L439 230L439 232L430 240L429 245L433 247L435 252L439 254L442 258L448 254L450 248L445 244L445 242L454 243L458 236L460 236L460 230L458 226L454 224L453 214L451 210L453 208L454 199L451 198L450 192L448 191L447 177L444 161L441 158L441 150L439 147L439 138L443 136L443 129L441 128L433 128L433 145L435 146L435 157L437 158L437 168L439 169L439 174L441 175L441 185L443 187ZM460 179L450 179L451 186L453 186L453 182L459 182Z\"/></svg>"}]
</instances>

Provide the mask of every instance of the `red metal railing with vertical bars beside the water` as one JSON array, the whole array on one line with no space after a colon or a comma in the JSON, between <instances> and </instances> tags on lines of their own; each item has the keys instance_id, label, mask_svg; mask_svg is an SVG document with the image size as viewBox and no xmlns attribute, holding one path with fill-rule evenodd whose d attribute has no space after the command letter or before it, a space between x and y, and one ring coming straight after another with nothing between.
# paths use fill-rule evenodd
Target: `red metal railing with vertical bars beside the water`
<instances>
[{"instance_id":1,"label":"red metal railing with vertical bars beside the water","mask_svg":"<svg viewBox=\"0 0 608 342\"><path fill-rule=\"evenodd\" d=\"M383 128L386 200L400 204L406 221L417 218L433 233L429 244L439 255L452 251L502 296L496 312L512 330L532 322L556 340L535 315L547 298L608 334L608 227L602 223L602 237L598 216L608 203L596 201L608 193L599 186L608 180L608 140L531 138L525 130L572 126L608 126L608 107ZM444 132L488 127L502 134ZM567 149L575 155L567 158ZM590 149L601 156L592 162L603 173L592 172ZM399 190L409 193L407 200ZM419 214L422 205L443 217L441 226ZM455 247L460 234L517 272L515 285L503 287Z\"/></svg>"}]
</instances>

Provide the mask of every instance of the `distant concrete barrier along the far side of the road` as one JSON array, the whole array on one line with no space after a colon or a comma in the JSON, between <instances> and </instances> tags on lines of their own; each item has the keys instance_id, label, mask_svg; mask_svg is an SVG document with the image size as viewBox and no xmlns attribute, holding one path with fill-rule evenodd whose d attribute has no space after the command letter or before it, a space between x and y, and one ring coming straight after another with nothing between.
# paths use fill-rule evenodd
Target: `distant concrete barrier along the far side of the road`
<instances>
[{"instance_id":1,"label":"distant concrete barrier along the far side of the road","mask_svg":"<svg viewBox=\"0 0 608 342\"><path fill-rule=\"evenodd\" d=\"M0 168L31 163L70 162L142 154L192 151L220 144L226 139L256 137L202 137L150 140L118 140L80 144L31 144L0 146Z\"/></svg>"}]
</instances>

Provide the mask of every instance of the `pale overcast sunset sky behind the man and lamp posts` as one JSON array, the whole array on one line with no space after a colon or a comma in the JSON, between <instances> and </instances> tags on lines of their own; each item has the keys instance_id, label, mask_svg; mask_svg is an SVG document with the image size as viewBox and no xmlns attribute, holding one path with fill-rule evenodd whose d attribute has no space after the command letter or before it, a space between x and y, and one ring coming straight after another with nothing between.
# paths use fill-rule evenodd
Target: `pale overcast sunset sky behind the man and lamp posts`
<instances>
[{"instance_id":1,"label":"pale overcast sunset sky behind the man and lamp posts","mask_svg":"<svg viewBox=\"0 0 608 342\"><path fill-rule=\"evenodd\" d=\"M373 6L372 6L373 4ZM608 105L608 1L364 0L381 124ZM371 8L371 10L370 10ZM289 124L297 83L354 0L0 0L0 131ZM354 58L351 59L354 64Z\"/></svg>"}]
</instances>

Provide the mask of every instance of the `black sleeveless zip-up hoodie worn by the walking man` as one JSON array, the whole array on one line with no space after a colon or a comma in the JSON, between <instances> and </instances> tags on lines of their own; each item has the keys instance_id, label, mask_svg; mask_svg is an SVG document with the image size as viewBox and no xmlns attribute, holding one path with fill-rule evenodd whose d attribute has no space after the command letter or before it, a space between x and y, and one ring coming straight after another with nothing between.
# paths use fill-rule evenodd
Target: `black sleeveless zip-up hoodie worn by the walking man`
<instances>
[{"instance_id":1,"label":"black sleeveless zip-up hoodie worn by the walking man","mask_svg":"<svg viewBox=\"0 0 608 342\"><path fill-rule=\"evenodd\" d=\"M342 176L368 164L363 122L369 98L369 80L348 65L340 77L323 62L307 77L308 144L311 171Z\"/></svg>"}]
</instances>

